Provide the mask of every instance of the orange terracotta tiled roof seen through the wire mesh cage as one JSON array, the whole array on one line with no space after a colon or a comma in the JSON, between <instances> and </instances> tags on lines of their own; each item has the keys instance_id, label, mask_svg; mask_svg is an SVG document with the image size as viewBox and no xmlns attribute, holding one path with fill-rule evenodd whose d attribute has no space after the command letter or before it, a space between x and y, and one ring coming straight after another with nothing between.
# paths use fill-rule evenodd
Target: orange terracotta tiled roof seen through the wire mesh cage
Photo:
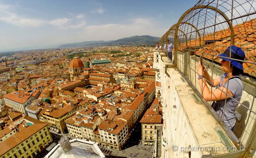
<instances>
[{"instance_id":1,"label":"orange terracotta tiled roof seen through the wire mesh cage","mask_svg":"<svg viewBox=\"0 0 256 158\"><path fill-rule=\"evenodd\" d=\"M256 44L256 19L252 19L250 21L245 21L241 24L237 24L233 26L234 29L234 41L235 45L238 47L241 47L242 50L244 50L245 53L245 61L253 62L255 63L256 60L256 51L255 51L255 44ZM230 30L229 29L223 29L218 32L208 34L205 36L202 36L201 39L204 39L201 41L201 45L204 45L205 41L207 40L218 40L213 44L204 45L203 48L198 49L196 52L197 56L202 56L202 53L204 52L207 54L204 54L203 57L208 60L213 60L217 63L220 63L221 59L212 56L213 55L219 55L220 53L223 53L228 46L230 46ZM188 42L188 47L195 47L199 46L199 38L191 40ZM182 48L185 48L186 43L180 44L179 50ZM244 63L244 74L248 74L250 76L256 77L256 69L255 64L251 63Z\"/></svg>"}]
</instances>

